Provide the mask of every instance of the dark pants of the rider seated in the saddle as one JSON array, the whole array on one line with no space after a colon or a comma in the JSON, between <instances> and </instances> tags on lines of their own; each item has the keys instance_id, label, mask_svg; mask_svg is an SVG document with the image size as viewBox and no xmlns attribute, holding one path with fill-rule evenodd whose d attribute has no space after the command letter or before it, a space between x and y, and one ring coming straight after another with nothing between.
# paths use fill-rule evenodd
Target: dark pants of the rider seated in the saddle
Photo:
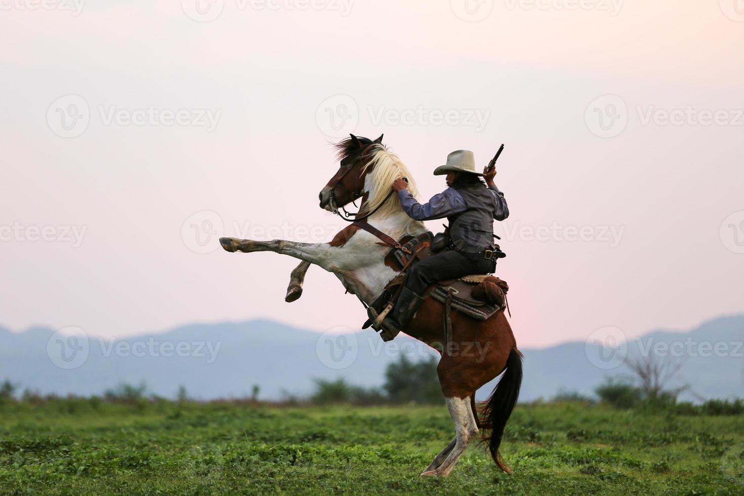
<instances>
[{"instance_id":1,"label":"dark pants of the rider seated in the saddle","mask_svg":"<svg viewBox=\"0 0 744 496\"><path fill-rule=\"evenodd\" d=\"M490 274L494 268L495 260L455 250L444 251L413 265L405 287L421 296L430 284L471 274Z\"/></svg>"}]
</instances>

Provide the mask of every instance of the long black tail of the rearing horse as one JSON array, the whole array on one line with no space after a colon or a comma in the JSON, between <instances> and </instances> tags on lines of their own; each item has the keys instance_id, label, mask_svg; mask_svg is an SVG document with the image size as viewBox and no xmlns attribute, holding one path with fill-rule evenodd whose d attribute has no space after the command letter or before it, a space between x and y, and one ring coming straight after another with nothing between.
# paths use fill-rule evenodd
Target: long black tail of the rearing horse
<instances>
[{"instance_id":1,"label":"long black tail of the rearing horse","mask_svg":"<svg viewBox=\"0 0 744 496\"><path fill-rule=\"evenodd\" d=\"M486 400L481 407L482 419L479 419L475 409L475 394L470 396L470 405L472 407L472 413L475 416L475 423L478 428L484 430L490 430L483 433L484 442L488 446L488 451L491 453L493 461L496 462L498 468L509 473L511 468L501 458L501 454L498 452L498 446L501 445L501 437L504 436L504 427L507 425L507 420L514 410L516 400L519 398L519 387L522 386L522 353L516 348L512 348L509 352L509 358L507 358L506 371L504 375L499 379L496 387L493 388L493 393ZM482 423L485 421L485 423Z\"/></svg>"}]
</instances>

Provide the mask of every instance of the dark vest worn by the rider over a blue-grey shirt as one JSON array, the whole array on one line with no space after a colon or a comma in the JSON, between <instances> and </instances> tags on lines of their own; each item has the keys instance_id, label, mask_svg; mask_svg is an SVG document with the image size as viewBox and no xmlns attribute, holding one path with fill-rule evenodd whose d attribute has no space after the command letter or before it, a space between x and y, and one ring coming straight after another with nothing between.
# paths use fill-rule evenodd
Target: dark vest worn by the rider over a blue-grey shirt
<instances>
[{"instance_id":1,"label":"dark vest worn by the rider over a blue-grey shirt","mask_svg":"<svg viewBox=\"0 0 744 496\"><path fill-rule=\"evenodd\" d=\"M467 210L447 217L452 245L467 253L493 248L493 216L496 213L493 193L485 184L455 189L465 200Z\"/></svg>"}]
</instances>

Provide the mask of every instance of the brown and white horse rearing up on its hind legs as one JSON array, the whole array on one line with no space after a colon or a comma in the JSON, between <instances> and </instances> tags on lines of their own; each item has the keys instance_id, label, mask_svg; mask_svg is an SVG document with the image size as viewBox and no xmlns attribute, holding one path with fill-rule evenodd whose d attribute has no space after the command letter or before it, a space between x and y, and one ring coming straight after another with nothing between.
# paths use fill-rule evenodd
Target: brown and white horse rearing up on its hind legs
<instances>
[{"instance_id":1,"label":"brown and white horse rearing up on its hind legs","mask_svg":"<svg viewBox=\"0 0 744 496\"><path fill-rule=\"evenodd\" d=\"M411 239L426 232L422 222L405 214L398 196L389 194L393 182L403 177L408 178L408 190L414 196L417 190L408 168L382 144L382 136L375 141L352 136L336 144L336 149L341 165L320 193L321 207L335 212L336 207L362 198L358 216L368 216L369 224L393 239ZM226 251L274 251L303 260L292 271L287 295L290 301L301 294L304 273L310 264L336 274L348 292L367 304L382 294L385 285L402 268L391 248L379 245L379 239L356 225L344 228L327 243L236 238L221 238L219 242ZM441 352L443 312L442 303L427 298L402 330ZM457 435L421 475L449 475L472 439L478 437L479 429L484 431L483 440L496 465L508 472L510 468L501 459L498 447L522 384L522 354L516 348L511 327L504 312L497 312L486 321L452 312L452 336L452 350L463 352L443 353L437 376ZM464 352L473 349L480 350L479 354ZM502 372L504 375L479 415L475 391Z\"/></svg>"}]
</instances>

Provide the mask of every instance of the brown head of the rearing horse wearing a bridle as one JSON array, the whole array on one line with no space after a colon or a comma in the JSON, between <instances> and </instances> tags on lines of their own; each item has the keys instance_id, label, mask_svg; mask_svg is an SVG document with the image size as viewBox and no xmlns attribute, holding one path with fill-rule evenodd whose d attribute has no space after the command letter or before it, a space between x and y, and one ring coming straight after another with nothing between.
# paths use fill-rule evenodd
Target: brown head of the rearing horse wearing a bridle
<instances>
[{"instance_id":1,"label":"brown head of the rearing horse wearing a bridle","mask_svg":"<svg viewBox=\"0 0 744 496\"><path fill-rule=\"evenodd\" d=\"M365 178L372 172L368 162L373 152L385 149L385 146L382 145L382 135L374 141L350 135L350 138L337 143L336 149L341 166L318 195L321 208L330 212L364 195Z\"/></svg>"}]
</instances>

